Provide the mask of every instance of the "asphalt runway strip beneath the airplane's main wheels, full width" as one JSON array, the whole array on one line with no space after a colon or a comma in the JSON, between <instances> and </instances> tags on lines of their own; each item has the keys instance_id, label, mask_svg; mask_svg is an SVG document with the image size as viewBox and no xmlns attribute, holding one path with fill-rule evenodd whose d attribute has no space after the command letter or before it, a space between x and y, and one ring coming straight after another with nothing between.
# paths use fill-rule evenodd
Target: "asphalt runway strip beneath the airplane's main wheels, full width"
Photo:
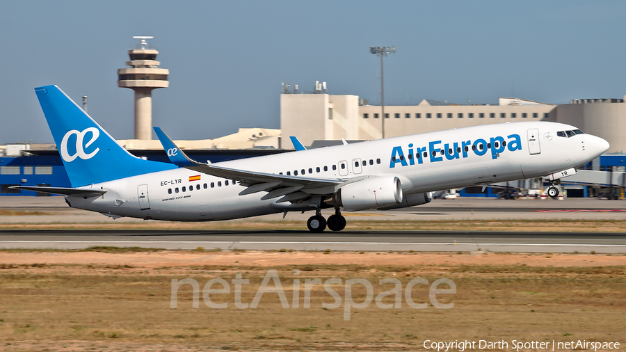
<instances>
[{"instance_id":1,"label":"asphalt runway strip beneath the airplane's main wheels, full width","mask_svg":"<svg viewBox=\"0 0 626 352\"><path fill-rule=\"evenodd\" d=\"M168 250L352 250L626 253L626 234L571 232L3 230L0 248L91 246Z\"/></svg>"}]
</instances>

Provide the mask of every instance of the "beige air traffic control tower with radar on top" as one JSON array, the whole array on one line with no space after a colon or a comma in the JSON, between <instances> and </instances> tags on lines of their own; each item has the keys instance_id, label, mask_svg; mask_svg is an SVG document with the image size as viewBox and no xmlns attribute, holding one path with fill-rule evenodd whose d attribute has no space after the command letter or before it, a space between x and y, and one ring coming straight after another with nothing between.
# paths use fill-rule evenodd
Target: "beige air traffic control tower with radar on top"
<instances>
[{"instance_id":1,"label":"beige air traffic control tower with radar on top","mask_svg":"<svg viewBox=\"0 0 626 352\"><path fill-rule=\"evenodd\" d=\"M118 87L135 91L135 139L152 139L152 90L168 88L170 70L158 68L159 51L146 49L146 39L154 37L133 37L141 40L141 49L130 49L128 68L118 70Z\"/></svg>"}]
</instances>

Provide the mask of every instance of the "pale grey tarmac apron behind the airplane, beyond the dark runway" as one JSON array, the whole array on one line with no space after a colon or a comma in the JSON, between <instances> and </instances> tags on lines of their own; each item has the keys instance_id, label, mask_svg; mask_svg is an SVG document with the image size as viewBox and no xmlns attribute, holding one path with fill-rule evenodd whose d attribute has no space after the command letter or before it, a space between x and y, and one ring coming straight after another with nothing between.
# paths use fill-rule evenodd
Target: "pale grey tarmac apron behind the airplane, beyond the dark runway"
<instances>
[{"instance_id":1,"label":"pale grey tarmac apron behind the airplane, beyond the dark runway","mask_svg":"<svg viewBox=\"0 0 626 352\"><path fill-rule=\"evenodd\" d=\"M10 211L18 211L12 215ZM52 197L0 197L0 224L7 223L144 223L142 219L118 218L113 220L93 211L72 209L60 196ZM38 211L39 215L26 215ZM334 214L333 209L322 211L324 216ZM495 198L435 199L428 204L390 211L344 211L346 219L369 220L623 220L626 218L626 200L599 200L596 198L565 198L540 200L520 198L503 200ZM306 221L312 211L301 214L290 212L289 221ZM252 221L280 221L283 214L270 214L248 218ZM239 220L234 220L239 221Z\"/></svg>"}]
</instances>

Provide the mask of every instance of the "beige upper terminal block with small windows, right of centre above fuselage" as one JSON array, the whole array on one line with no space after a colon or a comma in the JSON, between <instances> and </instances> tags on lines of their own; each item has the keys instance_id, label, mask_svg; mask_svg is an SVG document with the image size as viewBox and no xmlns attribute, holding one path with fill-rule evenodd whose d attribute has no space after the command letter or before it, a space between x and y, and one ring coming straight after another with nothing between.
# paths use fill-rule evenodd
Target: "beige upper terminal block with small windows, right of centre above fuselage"
<instances>
[{"instance_id":1,"label":"beige upper terminal block with small windows, right of centre above fuselage","mask_svg":"<svg viewBox=\"0 0 626 352\"><path fill-rule=\"evenodd\" d=\"M304 145L341 138L379 139L381 115L381 106L369 105L358 95L329 95L321 91L280 95L281 134L297 136ZM530 120L574 125L609 141L608 153L626 151L624 99L575 99L570 104L559 105L513 97L499 98L498 105L462 105L424 99L418 105L385 106L385 138Z\"/></svg>"}]
</instances>

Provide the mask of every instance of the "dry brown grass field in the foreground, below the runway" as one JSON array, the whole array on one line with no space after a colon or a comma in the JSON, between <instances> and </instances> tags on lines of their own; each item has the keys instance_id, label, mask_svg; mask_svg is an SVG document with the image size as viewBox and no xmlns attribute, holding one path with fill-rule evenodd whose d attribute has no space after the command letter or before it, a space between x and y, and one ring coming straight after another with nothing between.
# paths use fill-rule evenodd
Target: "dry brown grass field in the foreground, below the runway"
<instances>
[{"instance_id":1,"label":"dry brown grass field in the foreground, below the runway","mask_svg":"<svg viewBox=\"0 0 626 352\"><path fill-rule=\"evenodd\" d=\"M263 294L254 309L236 307L236 274L249 280L241 303L252 303L269 269L289 307L276 293ZM198 282L199 307L192 307L191 285L182 285L173 309L172 279L185 278ZM203 299L202 288L214 278L230 284L230 294L209 295L227 303L225 309ZM329 278L342 280L332 285L342 304L323 307L335 298L313 285L304 307L305 280ZM348 321L344 283L355 278L371 282L374 299L353 308ZM385 278L401 282L401 307L376 305L376 296L394 287L380 285ZM427 303L424 309L405 301L406 285L416 278L428 280L411 291L412 301ZM456 294L436 296L454 303L450 309L429 298L429 285L441 278L456 285ZM294 280L300 280L298 307ZM364 285L352 286L355 303L366 294ZM3 250L0 297L0 350L6 351L416 351L427 339L626 342L624 255ZM381 303L394 303L394 295Z\"/></svg>"}]
</instances>

